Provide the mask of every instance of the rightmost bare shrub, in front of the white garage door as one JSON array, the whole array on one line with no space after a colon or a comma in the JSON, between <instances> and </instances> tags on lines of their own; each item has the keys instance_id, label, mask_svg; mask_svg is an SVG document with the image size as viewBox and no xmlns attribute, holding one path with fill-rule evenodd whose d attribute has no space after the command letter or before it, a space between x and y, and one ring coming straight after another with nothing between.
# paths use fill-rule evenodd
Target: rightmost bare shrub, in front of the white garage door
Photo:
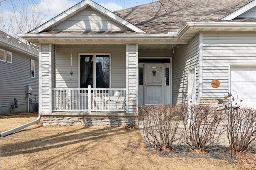
<instances>
[{"instance_id":1,"label":"rightmost bare shrub, in front of the white garage door","mask_svg":"<svg viewBox=\"0 0 256 170\"><path fill-rule=\"evenodd\" d=\"M230 148L234 152L251 149L256 142L256 109L230 107L225 113Z\"/></svg>"}]
</instances>

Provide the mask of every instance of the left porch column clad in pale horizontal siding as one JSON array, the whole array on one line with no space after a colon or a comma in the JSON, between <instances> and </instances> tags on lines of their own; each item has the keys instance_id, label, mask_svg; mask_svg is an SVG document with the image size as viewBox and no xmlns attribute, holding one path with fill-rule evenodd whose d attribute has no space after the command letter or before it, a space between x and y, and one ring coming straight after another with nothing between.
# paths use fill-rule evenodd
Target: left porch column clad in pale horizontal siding
<instances>
[{"instance_id":1,"label":"left porch column clad in pale horizontal siding","mask_svg":"<svg viewBox=\"0 0 256 170\"><path fill-rule=\"evenodd\" d=\"M52 112L52 44L39 44L38 112Z\"/></svg>"}]
</instances>

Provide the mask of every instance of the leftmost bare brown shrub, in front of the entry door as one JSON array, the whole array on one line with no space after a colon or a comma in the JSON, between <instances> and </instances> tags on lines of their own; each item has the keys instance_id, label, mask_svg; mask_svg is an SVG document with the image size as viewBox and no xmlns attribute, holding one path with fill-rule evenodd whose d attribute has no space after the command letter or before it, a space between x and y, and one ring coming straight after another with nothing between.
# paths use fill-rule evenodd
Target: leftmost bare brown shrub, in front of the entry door
<instances>
[{"instance_id":1,"label":"leftmost bare brown shrub, in front of the entry door","mask_svg":"<svg viewBox=\"0 0 256 170\"><path fill-rule=\"evenodd\" d=\"M186 107L183 105L140 107L145 141L160 150L173 150L178 147L184 134L184 129L178 131L184 109Z\"/></svg>"}]
</instances>

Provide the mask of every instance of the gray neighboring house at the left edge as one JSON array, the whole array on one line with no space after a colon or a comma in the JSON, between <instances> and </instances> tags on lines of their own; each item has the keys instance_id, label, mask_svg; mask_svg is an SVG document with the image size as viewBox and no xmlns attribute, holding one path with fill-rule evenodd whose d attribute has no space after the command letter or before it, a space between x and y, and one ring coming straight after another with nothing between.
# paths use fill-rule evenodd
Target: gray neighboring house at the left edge
<instances>
[{"instance_id":1,"label":"gray neighboring house at the left edge","mask_svg":"<svg viewBox=\"0 0 256 170\"><path fill-rule=\"evenodd\" d=\"M37 95L38 50L0 31L0 114L38 111Z\"/></svg>"}]
</instances>

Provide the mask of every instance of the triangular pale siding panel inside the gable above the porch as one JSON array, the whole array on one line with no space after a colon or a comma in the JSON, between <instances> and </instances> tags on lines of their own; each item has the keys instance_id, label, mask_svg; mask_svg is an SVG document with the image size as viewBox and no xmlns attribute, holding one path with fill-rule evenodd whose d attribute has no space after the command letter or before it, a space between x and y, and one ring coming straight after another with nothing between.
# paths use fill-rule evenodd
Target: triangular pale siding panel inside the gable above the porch
<instances>
[{"instance_id":1,"label":"triangular pale siding panel inside the gable above the porch","mask_svg":"<svg viewBox=\"0 0 256 170\"><path fill-rule=\"evenodd\" d=\"M78 14L60 23L53 30L86 31L121 31L128 30L117 22L110 20L100 12L88 7Z\"/></svg>"}]
</instances>

